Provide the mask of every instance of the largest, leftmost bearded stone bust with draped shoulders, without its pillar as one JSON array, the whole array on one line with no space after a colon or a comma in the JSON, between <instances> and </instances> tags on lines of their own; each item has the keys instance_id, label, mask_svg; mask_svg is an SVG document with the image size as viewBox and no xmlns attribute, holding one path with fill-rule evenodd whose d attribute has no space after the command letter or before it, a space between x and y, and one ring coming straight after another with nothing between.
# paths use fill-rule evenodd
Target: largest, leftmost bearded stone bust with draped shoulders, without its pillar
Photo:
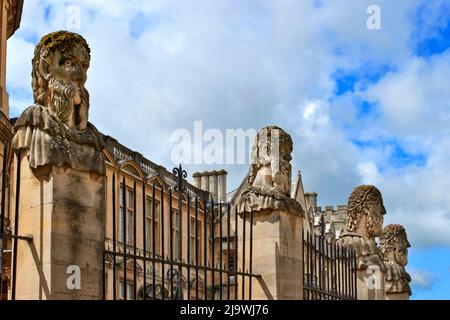
<instances>
[{"instance_id":1,"label":"largest, leftmost bearded stone bust with draped shoulders, without its pillar","mask_svg":"<svg viewBox=\"0 0 450 320\"><path fill-rule=\"evenodd\" d=\"M32 61L35 105L15 124L13 148L27 150L30 167L69 166L105 173L104 143L88 122L89 93L84 87L90 63L86 40L58 31L44 36Z\"/></svg>"}]
</instances>

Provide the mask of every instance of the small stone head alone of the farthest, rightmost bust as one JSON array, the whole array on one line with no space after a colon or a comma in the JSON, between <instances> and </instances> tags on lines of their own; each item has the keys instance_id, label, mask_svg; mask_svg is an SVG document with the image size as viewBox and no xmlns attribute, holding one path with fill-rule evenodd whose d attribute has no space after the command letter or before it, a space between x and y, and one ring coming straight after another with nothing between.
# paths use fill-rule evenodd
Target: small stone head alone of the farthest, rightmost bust
<instances>
[{"instance_id":1,"label":"small stone head alone of the farthest, rightmost bust","mask_svg":"<svg viewBox=\"0 0 450 320\"><path fill-rule=\"evenodd\" d=\"M390 224L383 229L380 237L381 251L386 260L404 267L408 263L408 248L411 247L405 228L400 224Z\"/></svg>"}]
</instances>

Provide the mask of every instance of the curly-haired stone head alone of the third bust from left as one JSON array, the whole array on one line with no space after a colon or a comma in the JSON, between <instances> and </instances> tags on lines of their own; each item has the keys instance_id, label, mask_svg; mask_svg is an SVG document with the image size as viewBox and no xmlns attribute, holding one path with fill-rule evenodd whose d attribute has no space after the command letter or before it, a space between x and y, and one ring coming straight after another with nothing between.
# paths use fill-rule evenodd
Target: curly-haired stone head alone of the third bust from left
<instances>
[{"instance_id":1,"label":"curly-haired stone head alone of the third bust from left","mask_svg":"<svg viewBox=\"0 0 450 320\"><path fill-rule=\"evenodd\" d=\"M380 190L372 185L356 187L348 199L347 231L378 237L382 233L384 214Z\"/></svg>"}]
</instances>

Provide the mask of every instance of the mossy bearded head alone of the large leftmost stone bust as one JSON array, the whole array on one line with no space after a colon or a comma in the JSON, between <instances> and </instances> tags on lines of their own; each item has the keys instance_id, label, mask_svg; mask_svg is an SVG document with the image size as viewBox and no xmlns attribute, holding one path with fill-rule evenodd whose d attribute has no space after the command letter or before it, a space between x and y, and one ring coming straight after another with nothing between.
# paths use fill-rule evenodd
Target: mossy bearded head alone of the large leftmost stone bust
<instances>
[{"instance_id":1,"label":"mossy bearded head alone of the large leftmost stone bust","mask_svg":"<svg viewBox=\"0 0 450 320\"><path fill-rule=\"evenodd\" d=\"M69 128L86 129L89 93L84 85L90 63L86 40L67 31L50 33L36 46L32 62L35 103Z\"/></svg>"}]
</instances>

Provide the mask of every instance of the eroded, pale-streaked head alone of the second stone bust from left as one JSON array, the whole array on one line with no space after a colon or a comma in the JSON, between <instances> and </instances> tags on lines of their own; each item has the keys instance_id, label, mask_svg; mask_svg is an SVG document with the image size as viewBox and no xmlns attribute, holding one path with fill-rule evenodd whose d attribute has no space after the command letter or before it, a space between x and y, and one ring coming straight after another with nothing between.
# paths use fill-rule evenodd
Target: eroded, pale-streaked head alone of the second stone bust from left
<instances>
[{"instance_id":1,"label":"eroded, pale-streaked head alone of the second stone bust from left","mask_svg":"<svg viewBox=\"0 0 450 320\"><path fill-rule=\"evenodd\" d=\"M292 139L283 129L259 130L252 149L249 185L274 189L287 196L291 190Z\"/></svg>"}]
</instances>

